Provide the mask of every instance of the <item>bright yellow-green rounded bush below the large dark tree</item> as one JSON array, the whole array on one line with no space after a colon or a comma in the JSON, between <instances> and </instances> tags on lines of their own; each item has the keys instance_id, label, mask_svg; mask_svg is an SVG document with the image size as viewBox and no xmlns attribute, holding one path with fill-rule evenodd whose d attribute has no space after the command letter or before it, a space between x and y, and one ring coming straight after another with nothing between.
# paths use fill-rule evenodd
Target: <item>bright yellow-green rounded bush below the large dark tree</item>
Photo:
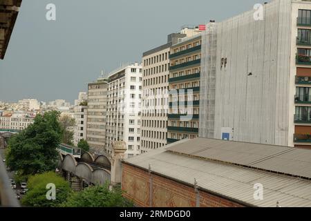
<instances>
[{"instance_id":1,"label":"bright yellow-green rounded bush below the large dark tree","mask_svg":"<svg viewBox=\"0 0 311 221\"><path fill-rule=\"evenodd\" d=\"M55 184L55 200L47 199L46 195L50 190L46 189L47 184ZM54 172L33 175L29 177L27 185L28 192L21 200L21 203L25 206L57 207L66 202L68 195L71 193L69 183Z\"/></svg>"}]
</instances>

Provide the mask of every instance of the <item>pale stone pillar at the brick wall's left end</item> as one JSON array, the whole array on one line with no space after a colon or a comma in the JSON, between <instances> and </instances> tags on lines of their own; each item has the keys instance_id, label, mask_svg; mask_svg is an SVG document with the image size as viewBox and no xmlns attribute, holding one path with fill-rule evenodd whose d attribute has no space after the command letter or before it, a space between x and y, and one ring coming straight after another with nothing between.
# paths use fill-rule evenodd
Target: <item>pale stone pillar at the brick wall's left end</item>
<instances>
[{"instance_id":1,"label":"pale stone pillar at the brick wall's left end","mask_svg":"<svg viewBox=\"0 0 311 221\"><path fill-rule=\"evenodd\" d=\"M111 187L121 183L122 180L122 159L127 150L126 143L123 141L113 142L111 153Z\"/></svg>"}]
</instances>

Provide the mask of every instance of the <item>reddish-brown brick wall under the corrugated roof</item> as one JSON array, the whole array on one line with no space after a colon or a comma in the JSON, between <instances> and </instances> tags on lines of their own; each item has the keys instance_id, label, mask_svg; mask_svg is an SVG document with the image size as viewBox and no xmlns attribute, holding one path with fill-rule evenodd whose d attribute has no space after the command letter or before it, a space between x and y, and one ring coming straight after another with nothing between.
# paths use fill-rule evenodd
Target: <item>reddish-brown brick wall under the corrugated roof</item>
<instances>
[{"instance_id":1,"label":"reddish-brown brick wall under the corrugated roof","mask_svg":"<svg viewBox=\"0 0 311 221\"><path fill-rule=\"evenodd\" d=\"M194 207L196 193L194 188L152 174L152 207ZM122 164L122 190L124 196L135 205L148 207L150 200L150 176L147 171L128 164ZM241 204L200 191L201 207L241 207Z\"/></svg>"}]
</instances>

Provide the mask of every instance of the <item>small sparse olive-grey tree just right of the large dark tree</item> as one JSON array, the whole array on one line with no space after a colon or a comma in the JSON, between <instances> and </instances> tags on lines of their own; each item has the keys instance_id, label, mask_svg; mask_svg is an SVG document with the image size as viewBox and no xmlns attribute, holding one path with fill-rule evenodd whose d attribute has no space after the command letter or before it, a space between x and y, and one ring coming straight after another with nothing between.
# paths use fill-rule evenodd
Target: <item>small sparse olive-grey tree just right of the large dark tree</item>
<instances>
[{"instance_id":1,"label":"small sparse olive-grey tree just right of the large dark tree","mask_svg":"<svg viewBox=\"0 0 311 221\"><path fill-rule=\"evenodd\" d=\"M61 115L59 117L59 124L62 128L62 143L73 146L73 127L75 126L75 119L70 115Z\"/></svg>"}]
</instances>

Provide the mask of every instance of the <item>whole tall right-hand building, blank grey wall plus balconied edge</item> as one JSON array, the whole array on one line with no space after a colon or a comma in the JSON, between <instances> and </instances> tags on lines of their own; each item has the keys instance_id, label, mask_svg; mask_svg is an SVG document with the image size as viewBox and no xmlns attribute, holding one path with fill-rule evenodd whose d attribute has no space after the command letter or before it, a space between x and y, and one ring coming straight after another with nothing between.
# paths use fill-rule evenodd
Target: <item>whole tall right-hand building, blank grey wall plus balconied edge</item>
<instances>
[{"instance_id":1,"label":"whole tall right-hand building, blank grey wall plus balconied edge","mask_svg":"<svg viewBox=\"0 0 311 221\"><path fill-rule=\"evenodd\" d=\"M200 130L201 137L310 147L311 39L300 30L311 29L308 10L310 1L274 0L263 6L263 19L252 10L215 24L216 59L202 54L201 71L216 66L214 131Z\"/></svg>"}]
</instances>

